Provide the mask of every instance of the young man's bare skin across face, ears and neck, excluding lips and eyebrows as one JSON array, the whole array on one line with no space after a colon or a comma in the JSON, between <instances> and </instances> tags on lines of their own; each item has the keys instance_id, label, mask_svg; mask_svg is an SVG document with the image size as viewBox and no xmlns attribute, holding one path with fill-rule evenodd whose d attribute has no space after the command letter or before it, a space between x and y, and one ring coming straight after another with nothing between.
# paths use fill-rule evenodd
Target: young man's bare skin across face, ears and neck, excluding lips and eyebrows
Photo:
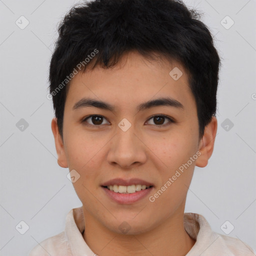
<instances>
[{"instance_id":1,"label":"young man's bare skin across face, ears and neck, excluding lips and eyebrows","mask_svg":"<svg viewBox=\"0 0 256 256\"><path fill-rule=\"evenodd\" d=\"M175 66L183 72L176 81L169 75ZM212 117L199 139L196 104L184 68L164 59L148 61L134 51L113 68L96 67L76 74L68 86L63 139L55 118L51 128L58 164L80 174L73 186L83 205L85 242L102 256L185 255L195 243L183 225L186 194L195 165L206 166L212 154L217 120ZM178 100L184 108L162 105L136 110L144 101L165 96ZM72 110L82 97L106 101L116 109ZM92 118L81 122L93 114L104 117L101 124ZM154 121L151 117L157 114L172 117L175 122ZM131 123L125 132L118 127L123 118ZM197 151L200 156L150 202L148 197ZM100 187L115 177L141 178L154 187L149 196L135 203L118 204ZM123 221L130 226L126 234L118 228Z\"/></svg>"}]
</instances>

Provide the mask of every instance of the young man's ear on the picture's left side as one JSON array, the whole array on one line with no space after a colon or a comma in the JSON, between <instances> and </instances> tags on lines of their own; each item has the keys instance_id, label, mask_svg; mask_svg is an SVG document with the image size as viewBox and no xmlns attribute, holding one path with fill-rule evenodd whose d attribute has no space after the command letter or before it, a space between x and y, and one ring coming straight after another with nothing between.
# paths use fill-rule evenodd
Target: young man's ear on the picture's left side
<instances>
[{"instance_id":1,"label":"young man's ear on the picture's left side","mask_svg":"<svg viewBox=\"0 0 256 256\"><path fill-rule=\"evenodd\" d=\"M64 145L63 145L62 138L58 132L57 119L55 117L51 120L51 130L55 140L55 147L58 155L58 159L57 159L58 165L60 167L67 168L68 165L66 161Z\"/></svg>"}]
</instances>

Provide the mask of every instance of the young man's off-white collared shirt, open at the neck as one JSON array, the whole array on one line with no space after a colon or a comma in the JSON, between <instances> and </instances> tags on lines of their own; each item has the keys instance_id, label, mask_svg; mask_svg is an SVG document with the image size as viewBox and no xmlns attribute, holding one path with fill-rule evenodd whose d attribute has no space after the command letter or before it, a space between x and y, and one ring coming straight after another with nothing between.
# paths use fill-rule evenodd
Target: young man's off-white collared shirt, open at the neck
<instances>
[{"instance_id":1,"label":"young man's off-white collared shirt, open at the neck","mask_svg":"<svg viewBox=\"0 0 256 256\"><path fill-rule=\"evenodd\" d=\"M196 242L186 256L255 256L252 248L237 238L211 230L206 219L197 213L184 213L184 228ZM71 209L63 232L49 237L29 252L29 256L95 256L83 239L82 206Z\"/></svg>"}]
</instances>

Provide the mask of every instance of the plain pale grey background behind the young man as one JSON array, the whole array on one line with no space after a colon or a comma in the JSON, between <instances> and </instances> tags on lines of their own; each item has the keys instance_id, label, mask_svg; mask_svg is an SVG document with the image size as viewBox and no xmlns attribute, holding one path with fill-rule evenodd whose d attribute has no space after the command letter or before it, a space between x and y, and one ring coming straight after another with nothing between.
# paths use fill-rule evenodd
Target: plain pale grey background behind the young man
<instances>
[{"instance_id":1,"label":"plain pale grey background behind the young man","mask_svg":"<svg viewBox=\"0 0 256 256\"><path fill-rule=\"evenodd\" d=\"M56 25L75 2L0 0L0 255L27 255L63 231L67 212L81 206L68 169L57 165L46 98ZM223 58L215 147L208 165L195 168L185 211L202 214L221 234L228 220L225 229L234 226L229 235L256 250L256 2L184 2L204 12ZM21 15L29 21L24 29L15 23ZM228 29L226 15L234 21ZM23 130L21 118L28 123ZM24 234L15 228L21 220L29 226Z\"/></svg>"}]
</instances>

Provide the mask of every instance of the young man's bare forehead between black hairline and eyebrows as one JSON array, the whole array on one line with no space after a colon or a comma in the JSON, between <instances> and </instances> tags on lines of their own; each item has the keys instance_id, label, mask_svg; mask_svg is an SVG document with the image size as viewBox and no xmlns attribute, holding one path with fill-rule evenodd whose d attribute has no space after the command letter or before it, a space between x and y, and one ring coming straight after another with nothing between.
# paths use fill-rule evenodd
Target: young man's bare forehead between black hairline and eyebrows
<instances>
[{"instance_id":1,"label":"young man's bare forehead between black hairline and eyebrows","mask_svg":"<svg viewBox=\"0 0 256 256\"><path fill-rule=\"evenodd\" d=\"M193 101L188 75L182 65L165 58L149 61L137 52L123 55L113 67L96 66L78 72L68 86L68 105L84 96L129 107L166 95L180 102Z\"/></svg>"}]
</instances>

